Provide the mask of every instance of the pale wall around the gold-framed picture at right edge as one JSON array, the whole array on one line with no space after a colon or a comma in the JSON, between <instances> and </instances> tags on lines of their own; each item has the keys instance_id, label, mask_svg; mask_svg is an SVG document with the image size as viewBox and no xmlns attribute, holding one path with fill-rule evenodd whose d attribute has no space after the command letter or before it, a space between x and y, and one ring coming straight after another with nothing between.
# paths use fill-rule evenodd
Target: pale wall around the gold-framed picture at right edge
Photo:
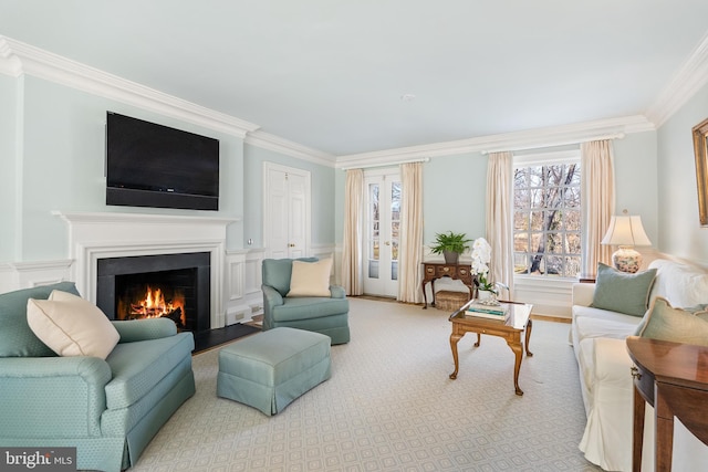
<instances>
[{"instance_id":1,"label":"pale wall around the gold-framed picture at right edge","mask_svg":"<svg viewBox=\"0 0 708 472\"><path fill-rule=\"evenodd\" d=\"M691 128L706 118L708 85L658 130L660 250L701 264L708 264L708 228L698 220Z\"/></svg>"}]
</instances>

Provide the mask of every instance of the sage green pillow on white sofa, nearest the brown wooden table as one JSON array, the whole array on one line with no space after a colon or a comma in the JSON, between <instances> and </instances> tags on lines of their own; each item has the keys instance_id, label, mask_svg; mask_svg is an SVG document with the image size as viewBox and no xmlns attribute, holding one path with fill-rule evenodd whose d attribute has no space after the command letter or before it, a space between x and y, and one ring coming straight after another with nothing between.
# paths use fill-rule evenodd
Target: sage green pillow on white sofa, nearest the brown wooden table
<instances>
[{"instance_id":1,"label":"sage green pillow on white sofa, nearest the brown wooden table","mask_svg":"<svg viewBox=\"0 0 708 472\"><path fill-rule=\"evenodd\" d=\"M636 336L708 346L708 312L674 308L666 298L657 296L637 327Z\"/></svg>"}]
</instances>

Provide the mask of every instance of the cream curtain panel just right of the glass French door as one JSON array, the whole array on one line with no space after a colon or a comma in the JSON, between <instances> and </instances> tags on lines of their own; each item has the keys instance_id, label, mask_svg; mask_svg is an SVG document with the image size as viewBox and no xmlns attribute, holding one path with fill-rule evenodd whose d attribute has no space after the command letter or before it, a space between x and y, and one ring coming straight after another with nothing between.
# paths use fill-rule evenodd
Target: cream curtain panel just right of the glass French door
<instances>
[{"instance_id":1,"label":"cream curtain panel just right of the glass French door","mask_svg":"<svg viewBox=\"0 0 708 472\"><path fill-rule=\"evenodd\" d=\"M398 301L418 303L423 262L423 165L400 165L403 195L398 241Z\"/></svg>"}]
</instances>

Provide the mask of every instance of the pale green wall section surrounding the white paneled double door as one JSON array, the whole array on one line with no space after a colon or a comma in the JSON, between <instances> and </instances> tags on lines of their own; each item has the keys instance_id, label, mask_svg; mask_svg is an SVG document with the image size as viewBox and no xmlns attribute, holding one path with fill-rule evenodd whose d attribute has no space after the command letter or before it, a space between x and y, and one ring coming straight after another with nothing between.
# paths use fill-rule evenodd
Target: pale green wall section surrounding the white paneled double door
<instances>
[{"instance_id":1,"label":"pale green wall section surrounding the white paneled double door","mask_svg":"<svg viewBox=\"0 0 708 472\"><path fill-rule=\"evenodd\" d=\"M244 148L244 183L246 211L243 214L243 239L253 240L253 247L263 244L263 162L308 170L311 178L312 193L312 241L313 245L333 244L335 233L335 177L334 168L295 159L290 156L246 145Z\"/></svg>"}]
</instances>

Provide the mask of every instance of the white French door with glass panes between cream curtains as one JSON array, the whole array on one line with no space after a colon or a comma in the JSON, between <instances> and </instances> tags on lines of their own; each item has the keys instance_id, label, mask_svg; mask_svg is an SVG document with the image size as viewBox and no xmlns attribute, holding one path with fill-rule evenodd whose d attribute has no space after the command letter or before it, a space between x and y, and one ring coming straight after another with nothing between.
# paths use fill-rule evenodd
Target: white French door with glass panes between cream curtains
<instances>
[{"instance_id":1,"label":"white French door with glass panes between cream curtains","mask_svg":"<svg viewBox=\"0 0 708 472\"><path fill-rule=\"evenodd\" d=\"M402 182L398 170L368 170L364 249L364 293L398 295Z\"/></svg>"}]
</instances>

